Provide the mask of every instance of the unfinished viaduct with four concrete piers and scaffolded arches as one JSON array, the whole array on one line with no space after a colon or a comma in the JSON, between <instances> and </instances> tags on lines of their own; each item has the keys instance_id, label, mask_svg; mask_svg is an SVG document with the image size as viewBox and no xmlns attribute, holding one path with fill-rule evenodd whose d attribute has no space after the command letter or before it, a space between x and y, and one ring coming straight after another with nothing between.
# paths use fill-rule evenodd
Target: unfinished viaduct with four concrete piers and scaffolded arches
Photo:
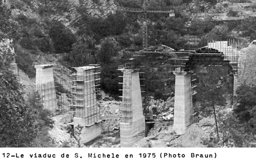
<instances>
[{"instance_id":1,"label":"unfinished viaduct with four concrete piers and scaffolded arches","mask_svg":"<svg viewBox=\"0 0 256 162\"><path fill-rule=\"evenodd\" d=\"M195 122L193 95L196 94L196 73L202 66L232 67L234 74L234 92L239 84L255 85L256 71L256 40L247 48L239 50L230 47L229 43L212 42L195 52L183 51L151 51L138 52L135 60L145 61L146 53L152 56L152 64L161 60L169 64L175 75L175 113L173 130L177 134L185 133L186 128ZM226 53L225 53L226 52ZM224 53L224 54L223 54ZM137 63L132 66L119 66L122 72L122 103L120 106L120 141L121 147L131 147L145 136L145 116L140 88L140 69ZM36 90L43 97L44 107L57 110L55 85L52 72L53 64L38 64L36 68ZM73 74L72 93L73 106L76 108L74 126L82 126L81 143L89 142L101 134L98 65L75 67Z\"/></svg>"}]
</instances>

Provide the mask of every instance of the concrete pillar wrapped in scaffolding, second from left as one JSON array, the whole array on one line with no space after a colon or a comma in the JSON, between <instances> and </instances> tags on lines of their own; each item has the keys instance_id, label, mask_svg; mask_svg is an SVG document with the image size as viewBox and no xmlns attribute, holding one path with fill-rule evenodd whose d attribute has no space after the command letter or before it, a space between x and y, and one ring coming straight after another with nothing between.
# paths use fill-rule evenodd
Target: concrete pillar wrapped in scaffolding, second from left
<instances>
[{"instance_id":1,"label":"concrete pillar wrapped in scaffolding, second from left","mask_svg":"<svg viewBox=\"0 0 256 162\"><path fill-rule=\"evenodd\" d=\"M97 106L93 66L75 67L74 94L76 113L74 126L82 126L80 143L86 143L101 134L100 112Z\"/></svg>"}]
</instances>

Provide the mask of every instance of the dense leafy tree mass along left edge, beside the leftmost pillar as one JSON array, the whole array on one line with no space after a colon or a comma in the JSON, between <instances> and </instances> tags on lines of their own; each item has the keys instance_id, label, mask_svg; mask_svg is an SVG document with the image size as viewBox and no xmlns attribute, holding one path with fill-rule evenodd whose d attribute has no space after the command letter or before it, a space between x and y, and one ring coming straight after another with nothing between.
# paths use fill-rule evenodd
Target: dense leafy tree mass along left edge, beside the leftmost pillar
<instances>
[{"instance_id":1,"label":"dense leafy tree mass along left edge, beside the leftmost pillar","mask_svg":"<svg viewBox=\"0 0 256 162\"><path fill-rule=\"evenodd\" d=\"M48 133L46 128L52 128L53 121L42 109L39 94L26 103L23 85L8 69L14 59L12 48L6 45L0 50L0 147L39 147L38 139L45 146L42 139L47 136L43 135Z\"/></svg>"}]
</instances>

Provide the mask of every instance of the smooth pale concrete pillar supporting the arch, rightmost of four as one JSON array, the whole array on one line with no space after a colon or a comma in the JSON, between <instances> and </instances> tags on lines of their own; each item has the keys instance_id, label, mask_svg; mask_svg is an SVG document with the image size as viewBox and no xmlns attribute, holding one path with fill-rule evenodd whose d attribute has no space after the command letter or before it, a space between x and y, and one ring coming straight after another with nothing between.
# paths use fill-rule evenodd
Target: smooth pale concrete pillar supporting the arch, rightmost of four
<instances>
[{"instance_id":1,"label":"smooth pale concrete pillar supporting the arch, rightmost of four","mask_svg":"<svg viewBox=\"0 0 256 162\"><path fill-rule=\"evenodd\" d=\"M191 124L192 91L189 72L173 72L175 74L175 100L173 130L177 134L185 133Z\"/></svg>"}]
</instances>

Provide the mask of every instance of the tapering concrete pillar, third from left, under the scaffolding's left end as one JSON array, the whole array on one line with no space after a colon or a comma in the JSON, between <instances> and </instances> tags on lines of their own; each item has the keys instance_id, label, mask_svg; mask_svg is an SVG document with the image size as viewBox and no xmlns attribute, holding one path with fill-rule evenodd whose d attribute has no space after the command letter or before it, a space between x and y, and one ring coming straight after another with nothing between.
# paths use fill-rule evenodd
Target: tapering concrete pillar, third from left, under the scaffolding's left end
<instances>
[{"instance_id":1,"label":"tapering concrete pillar, third from left, under the scaffolding's left end","mask_svg":"<svg viewBox=\"0 0 256 162\"><path fill-rule=\"evenodd\" d=\"M145 117L143 116L139 72L122 69L123 89L120 108L121 147L131 147L145 136Z\"/></svg>"}]
</instances>

